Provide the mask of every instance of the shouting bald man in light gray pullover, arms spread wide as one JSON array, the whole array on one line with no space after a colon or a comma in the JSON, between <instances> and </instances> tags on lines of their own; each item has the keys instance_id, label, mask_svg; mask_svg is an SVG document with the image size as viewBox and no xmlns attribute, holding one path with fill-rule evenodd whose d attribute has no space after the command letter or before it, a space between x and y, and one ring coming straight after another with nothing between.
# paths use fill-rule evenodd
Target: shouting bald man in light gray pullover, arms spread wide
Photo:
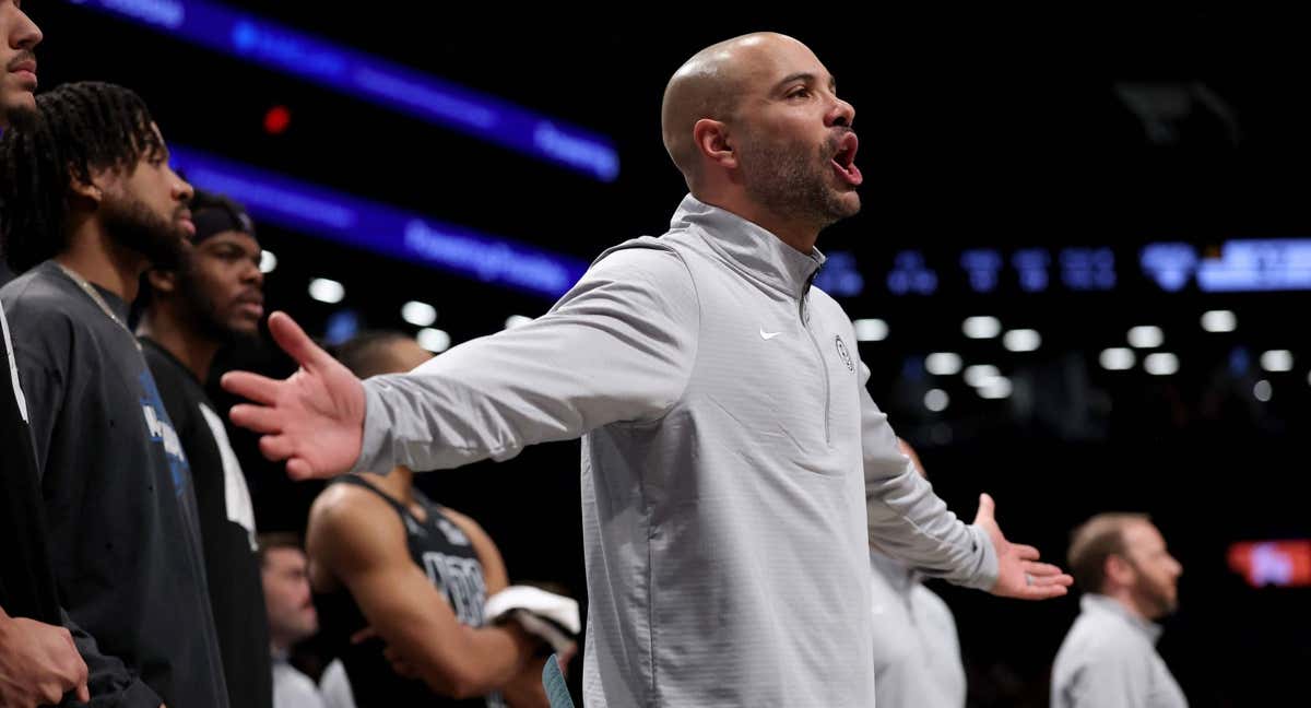
<instances>
[{"instance_id":1,"label":"shouting bald man in light gray pullover, arms spread wide","mask_svg":"<svg viewBox=\"0 0 1311 708\"><path fill-rule=\"evenodd\" d=\"M1021 598L1059 569L961 523L865 391L851 321L810 287L860 208L855 110L805 45L751 34L670 80L691 194L544 316L361 383L284 315L286 382L229 374L232 420L294 477L458 467L582 437L593 708L873 704L868 544Z\"/></svg>"}]
</instances>

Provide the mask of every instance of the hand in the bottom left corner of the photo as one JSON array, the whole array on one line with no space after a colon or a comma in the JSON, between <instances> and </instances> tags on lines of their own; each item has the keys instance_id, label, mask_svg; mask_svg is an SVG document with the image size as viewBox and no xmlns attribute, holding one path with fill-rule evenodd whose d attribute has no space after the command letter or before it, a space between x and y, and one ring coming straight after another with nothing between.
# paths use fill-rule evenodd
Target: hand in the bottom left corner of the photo
<instances>
[{"instance_id":1,"label":"hand in the bottom left corner of the photo","mask_svg":"<svg viewBox=\"0 0 1311 708\"><path fill-rule=\"evenodd\" d=\"M68 629L0 615L0 708L54 705L68 691L90 700L87 662Z\"/></svg>"}]
</instances>

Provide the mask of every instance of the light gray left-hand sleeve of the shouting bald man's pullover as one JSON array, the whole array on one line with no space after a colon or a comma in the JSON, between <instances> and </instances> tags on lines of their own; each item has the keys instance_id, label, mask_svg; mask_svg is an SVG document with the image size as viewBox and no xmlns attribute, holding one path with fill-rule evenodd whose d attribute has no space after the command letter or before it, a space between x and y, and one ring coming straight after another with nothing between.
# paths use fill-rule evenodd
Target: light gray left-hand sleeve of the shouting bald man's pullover
<instances>
[{"instance_id":1,"label":"light gray left-hand sleeve of the shouting bald man's pullover","mask_svg":"<svg viewBox=\"0 0 1311 708\"><path fill-rule=\"evenodd\" d=\"M532 443L657 420L691 378L699 319L678 254L617 250L538 320L364 382L354 471L505 460Z\"/></svg>"}]
</instances>

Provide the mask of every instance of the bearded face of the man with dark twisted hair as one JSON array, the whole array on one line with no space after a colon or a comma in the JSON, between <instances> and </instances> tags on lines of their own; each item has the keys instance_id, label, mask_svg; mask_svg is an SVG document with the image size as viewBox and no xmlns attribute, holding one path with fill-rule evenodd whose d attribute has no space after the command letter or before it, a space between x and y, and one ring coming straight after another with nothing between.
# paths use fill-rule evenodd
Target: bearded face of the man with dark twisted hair
<instances>
[{"instance_id":1,"label":"bearded face of the man with dark twisted hair","mask_svg":"<svg viewBox=\"0 0 1311 708\"><path fill-rule=\"evenodd\" d=\"M151 123L159 136L159 127ZM159 138L164 144L163 136ZM98 216L110 239L135 250L155 266L172 269L195 233L191 185L168 164L168 149L144 152L130 170L93 176L104 193Z\"/></svg>"}]
</instances>

